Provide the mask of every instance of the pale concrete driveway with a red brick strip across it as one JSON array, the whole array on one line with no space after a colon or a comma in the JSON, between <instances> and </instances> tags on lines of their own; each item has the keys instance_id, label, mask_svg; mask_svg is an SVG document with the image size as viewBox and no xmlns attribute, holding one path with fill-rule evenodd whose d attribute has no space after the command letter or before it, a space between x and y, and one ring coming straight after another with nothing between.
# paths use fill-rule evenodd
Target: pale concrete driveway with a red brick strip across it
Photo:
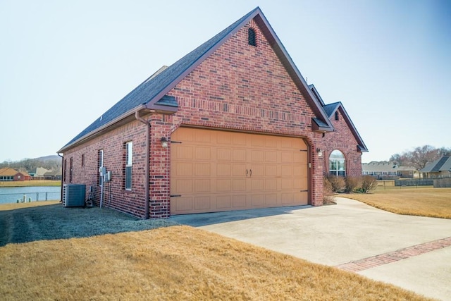
<instances>
[{"instance_id":1,"label":"pale concrete driveway with a red brick strip across it","mask_svg":"<svg viewBox=\"0 0 451 301\"><path fill-rule=\"evenodd\" d=\"M173 216L310 262L451 300L451 220L402 216L352 199L323 207L283 207Z\"/></svg>"}]
</instances>

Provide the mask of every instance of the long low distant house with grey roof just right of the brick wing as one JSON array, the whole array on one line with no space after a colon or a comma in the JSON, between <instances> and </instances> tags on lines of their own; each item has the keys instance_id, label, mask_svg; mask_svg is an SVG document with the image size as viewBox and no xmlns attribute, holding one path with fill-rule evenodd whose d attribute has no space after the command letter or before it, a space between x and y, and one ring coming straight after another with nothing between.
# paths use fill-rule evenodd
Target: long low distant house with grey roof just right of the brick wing
<instances>
[{"instance_id":1,"label":"long low distant house with grey roof just right of the brick wing","mask_svg":"<svg viewBox=\"0 0 451 301\"><path fill-rule=\"evenodd\" d=\"M399 166L394 163L364 163L362 164L362 175L373 176L378 179L386 178L414 178L416 168L412 166Z\"/></svg>"}]
</instances>

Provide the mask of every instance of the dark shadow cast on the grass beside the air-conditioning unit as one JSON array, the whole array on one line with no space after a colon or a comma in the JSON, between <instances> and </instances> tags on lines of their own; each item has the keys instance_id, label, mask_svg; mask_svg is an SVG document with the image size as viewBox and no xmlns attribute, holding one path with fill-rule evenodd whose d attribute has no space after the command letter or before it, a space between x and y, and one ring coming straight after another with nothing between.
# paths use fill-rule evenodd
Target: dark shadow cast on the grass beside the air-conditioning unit
<instances>
[{"instance_id":1,"label":"dark shadow cast on the grass beside the air-conditioning unit","mask_svg":"<svg viewBox=\"0 0 451 301\"><path fill-rule=\"evenodd\" d=\"M173 226L169 220L142 220L109 208L51 204L0 211L0 247L8 243L84 238Z\"/></svg>"}]
</instances>

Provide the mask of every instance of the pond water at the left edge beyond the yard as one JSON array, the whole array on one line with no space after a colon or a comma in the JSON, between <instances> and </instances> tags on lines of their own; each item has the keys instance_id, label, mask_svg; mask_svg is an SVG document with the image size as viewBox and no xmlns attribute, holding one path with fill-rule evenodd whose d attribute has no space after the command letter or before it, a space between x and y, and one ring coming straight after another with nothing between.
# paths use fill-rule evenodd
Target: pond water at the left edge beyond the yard
<instances>
[{"instance_id":1,"label":"pond water at the left edge beyond the yard","mask_svg":"<svg viewBox=\"0 0 451 301\"><path fill-rule=\"evenodd\" d=\"M16 203L24 196L26 202L60 200L61 186L0 187L0 204Z\"/></svg>"}]
</instances>

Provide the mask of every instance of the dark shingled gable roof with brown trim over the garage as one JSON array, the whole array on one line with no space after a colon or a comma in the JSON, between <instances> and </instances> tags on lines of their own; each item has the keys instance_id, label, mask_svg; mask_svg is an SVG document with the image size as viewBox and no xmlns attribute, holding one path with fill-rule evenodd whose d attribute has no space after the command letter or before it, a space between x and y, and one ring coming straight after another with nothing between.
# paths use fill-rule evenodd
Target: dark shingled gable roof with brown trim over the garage
<instances>
[{"instance_id":1,"label":"dark shingled gable roof with brown trim over the garage","mask_svg":"<svg viewBox=\"0 0 451 301\"><path fill-rule=\"evenodd\" d=\"M163 68L163 70L158 70L154 75L151 75L147 80L144 80L144 82L138 85L132 92L123 97L123 99L113 105L111 109L106 111L100 118L97 118L96 121L85 128L85 130L82 130L80 134L75 136L64 147L58 150L58 153L64 152L76 145L80 145L85 140L95 137L95 135L101 135L102 131L113 128L114 125L118 127L121 124L130 121L134 118L135 112L141 109L159 113L175 113L178 109L176 99L167 96L165 98L166 93L173 89L180 80L183 80L188 73L199 66L202 61L216 51L218 47L221 47L227 39L252 19L254 19L261 28L264 36L271 44L271 47L273 47L273 51L278 56L278 59L283 66L285 66L292 80L297 85L297 88L304 94L307 103L315 113L316 120L321 123L321 127L319 128L312 122L314 130L321 130L323 132L332 131L333 125L328 120L321 104L312 94L307 82L305 82L271 25L269 25L268 20L266 20L260 8L257 7L232 25L228 26L225 30L219 32L204 44L191 51L182 59L173 63L173 65L168 68Z\"/></svg>"}]
</instances>

